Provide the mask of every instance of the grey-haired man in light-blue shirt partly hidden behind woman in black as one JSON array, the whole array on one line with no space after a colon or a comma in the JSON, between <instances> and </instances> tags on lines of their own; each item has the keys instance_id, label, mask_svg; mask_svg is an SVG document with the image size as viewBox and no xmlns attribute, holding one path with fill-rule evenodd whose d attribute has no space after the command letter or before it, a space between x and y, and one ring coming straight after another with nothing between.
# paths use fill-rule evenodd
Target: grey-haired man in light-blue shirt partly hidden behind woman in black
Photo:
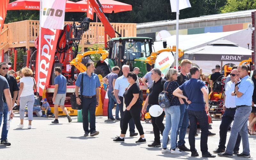
<instances>
[{"instance_id":1,"label":"grey-haired man in light-blue shirt partly hidden behind woman in black","mask_svg":"<svg viewBox=\"0 0 256 160\"><path fill-rule=\"evenodd\" d=\"M119 111L120 111L120 128L122 129L123 124L123 115L124 115L124 92L125 88L129 86L129 82L127 80L127 75L130 72L130 67L128 65L122 66L123 76L120 76L116 79L114 92L116 97L116 102L118 103ZM130 129L130 137L137 136L138 133L135 133L135 124L133 119L129 121L129 129Z\"/></svg>"}]
</instances>

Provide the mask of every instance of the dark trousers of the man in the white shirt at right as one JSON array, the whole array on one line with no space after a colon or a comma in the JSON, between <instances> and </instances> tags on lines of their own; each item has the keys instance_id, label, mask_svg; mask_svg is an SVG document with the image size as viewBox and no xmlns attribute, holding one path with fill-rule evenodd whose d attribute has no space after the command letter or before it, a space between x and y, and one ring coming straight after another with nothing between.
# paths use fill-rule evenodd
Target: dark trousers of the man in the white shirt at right
<instances>
[{"instance_id":1,"label":"dark trousers of the man in the white shirt at right","mask_svg":"<svg viewBox=\"0 0 256 160\"><path fill-rule=\"evenodd\" d=\"M221 123L220 123L220 142L219 142L219 148L224 149L226 148L226 140L227 140L227 132L230 124L234 120L236 113L236 109L226 109L224 114L222 115L221 118ZM234 151L239 151L239 146L241 142L241 136L238 132L237 139L236 139L236 145L234 148Z\"/></svg>"}]
</instances>

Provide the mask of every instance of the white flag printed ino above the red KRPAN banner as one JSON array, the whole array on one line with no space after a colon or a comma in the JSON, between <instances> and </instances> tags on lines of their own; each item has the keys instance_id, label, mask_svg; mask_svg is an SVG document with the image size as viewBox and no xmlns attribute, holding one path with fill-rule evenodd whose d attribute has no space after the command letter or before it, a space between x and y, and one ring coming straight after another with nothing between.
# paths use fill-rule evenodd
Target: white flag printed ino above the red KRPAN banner
<instances>
[{"instance_id":1,"label":"white flag printed ino above the red KRPAN banner","mask_svg":"<svg viewBox=\"0 0 256 160\"><path fill-rule=\"evenodd\" d=\"M42 0L43 28L63 29L67 0Z\"/></svg>"}]
</instances>

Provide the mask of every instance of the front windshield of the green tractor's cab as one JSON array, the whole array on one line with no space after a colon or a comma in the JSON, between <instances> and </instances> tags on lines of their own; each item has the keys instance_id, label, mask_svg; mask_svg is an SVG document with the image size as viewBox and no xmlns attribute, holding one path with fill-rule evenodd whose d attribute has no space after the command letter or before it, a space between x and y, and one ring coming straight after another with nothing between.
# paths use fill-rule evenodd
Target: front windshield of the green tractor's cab
<instances>
[{"instance_id":1,"label":"front windshield of the green tractor's cab","mask_svg":"<svg viewBox=\"0 0 256 160\"><path fill-rule=\"evenodd\" d=\"M126 56L126 60L134 60L135 58L147 57L148 54L148 42L125 41L124 56Z\"/></svg>"}]
</instances>

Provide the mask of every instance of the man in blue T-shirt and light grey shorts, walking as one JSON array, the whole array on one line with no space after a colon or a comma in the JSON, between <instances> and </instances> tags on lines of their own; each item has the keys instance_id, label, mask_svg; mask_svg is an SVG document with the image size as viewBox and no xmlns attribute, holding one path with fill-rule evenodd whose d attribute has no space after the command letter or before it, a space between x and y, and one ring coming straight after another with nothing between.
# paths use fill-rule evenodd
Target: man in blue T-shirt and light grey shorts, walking
<instances>
[{"instance_id":1,"label":"man in blue T-shirt and light grey shorts, walking","mask_svg":"<svg viewBox=\"0 0 256 160\"><path fill-rule=\"evenodd\" d=\"M56 77L54 79L55 88L54 88L54 93L52 97L52 102L54 104L55 120L52 121L52 123L59 123L59 120L58 120L59 106L62 109L62 111L66 113L68 117L68 122L72 122L71 117L68 115L68 110L64 106L64 103L66 100L66 92L67 92L67 78L61 74L60 67L54 68L54 74L56 75Z\"/></svg>"}]
</instances>

